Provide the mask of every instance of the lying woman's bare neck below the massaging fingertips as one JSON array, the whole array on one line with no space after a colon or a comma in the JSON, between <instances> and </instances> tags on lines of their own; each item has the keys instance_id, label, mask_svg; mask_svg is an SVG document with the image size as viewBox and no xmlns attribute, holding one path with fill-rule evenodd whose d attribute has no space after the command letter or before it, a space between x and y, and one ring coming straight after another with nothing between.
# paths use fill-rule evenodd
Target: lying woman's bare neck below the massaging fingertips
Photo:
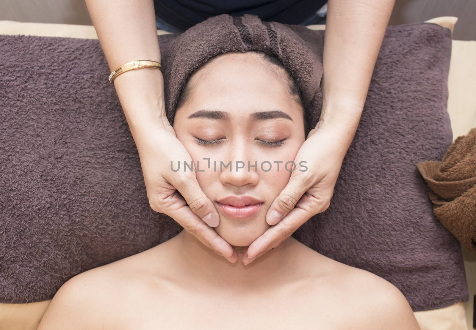
<instances>
[{"instance_id":1,"label":"lying woman's bare neck below the massaging fingertips","mask_svg":"<svg viewBox=\"0 0 476 330\"><path fill-rule=\"evenodd\" d=\"M289 237L274 249L256 258L248 265L241 262L247 247L233 246L238 252L238 262L231 263L222 256L210 250L195 236L182 230L177 236L177 266L184 277L193 281L213 284L214 287L245 287L262 286L270 283L276 274L284 275L291 271L291 262L295 259L292 247L297 241Z\"/></svg>"}]
</instances>

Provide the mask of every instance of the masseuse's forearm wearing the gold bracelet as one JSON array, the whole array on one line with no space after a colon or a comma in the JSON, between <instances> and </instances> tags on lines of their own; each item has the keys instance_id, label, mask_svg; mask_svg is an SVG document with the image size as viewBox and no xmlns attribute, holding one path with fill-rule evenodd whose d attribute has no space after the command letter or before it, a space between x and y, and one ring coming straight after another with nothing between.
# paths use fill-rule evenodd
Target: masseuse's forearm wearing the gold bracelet
<instances>
[{"instance_id":1,"label":"masseuse's forearm wearing the gold bracelet","mask_svg":"<svg viewBox=\"0 0 476 330\"><path fill-rule=\"evenodd\" d=\"M86 6L110 71L136 59L160 62L152 0L86 0ZM105 80L108 76L104 72ZM131 130L165 115L159 69L130 70L117 76L113 84Z\"/></svg>"}]
</instances>

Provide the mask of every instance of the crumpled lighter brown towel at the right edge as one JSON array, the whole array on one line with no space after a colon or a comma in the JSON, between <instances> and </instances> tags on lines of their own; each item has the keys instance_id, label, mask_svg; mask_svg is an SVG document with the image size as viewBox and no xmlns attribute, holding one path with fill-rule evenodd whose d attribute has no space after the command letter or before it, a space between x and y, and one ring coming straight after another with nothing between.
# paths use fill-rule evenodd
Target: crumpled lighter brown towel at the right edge
<instances>
[{"instance_id":1,"label":"crumpled lighter brown towel at the right edge","mask_svg":"<svg viewBox=\"0 0 476 330\"><path fill-rule=\"evenodd\" d=\"M476 251L476 127L458 136L442 161L417 164L438 220Z\"/></svg>"}]
</instances>

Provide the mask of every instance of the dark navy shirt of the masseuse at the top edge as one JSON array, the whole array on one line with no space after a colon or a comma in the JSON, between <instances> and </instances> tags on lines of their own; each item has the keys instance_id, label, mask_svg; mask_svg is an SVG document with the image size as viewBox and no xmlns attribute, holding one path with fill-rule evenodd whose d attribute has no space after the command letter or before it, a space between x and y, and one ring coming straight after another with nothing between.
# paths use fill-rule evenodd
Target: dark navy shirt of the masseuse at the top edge
<instances>
[{"instance_id":1,"label":"dark navy shirt of the masseuse at the top edge","mask_svg":"<svg viewBox=\"0 0 476 330\"><path fill-rule=\"evenodd\" d=\"M257 15L262 21L299 24L327 0L154 0L155 14L172 26L186 29L212 16Z\"/></svg>"}]
</instances>

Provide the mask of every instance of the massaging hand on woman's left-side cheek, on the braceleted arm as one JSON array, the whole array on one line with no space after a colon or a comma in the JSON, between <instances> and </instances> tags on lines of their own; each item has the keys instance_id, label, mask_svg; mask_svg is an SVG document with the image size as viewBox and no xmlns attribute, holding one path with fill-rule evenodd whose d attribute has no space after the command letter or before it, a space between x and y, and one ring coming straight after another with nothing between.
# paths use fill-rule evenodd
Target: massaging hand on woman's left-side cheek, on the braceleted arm
<instances>
[{"instance_id":1,"label":"massaging hand on woman's left-side cheek, on the braceleted arm","mask_svg":"<svg viewBox=\"0 0 476 330\"><path fill-rule=\"evenodd\" d=\"M238 261L238 253L211 227L218 226L218 212L201 190L194 171L173 172L170 162L191 163L187 149L177 139L166 117L140 125L133 132L150 207L169 215L185 230L225 257Z\"/></svg>"}]
</instances>

